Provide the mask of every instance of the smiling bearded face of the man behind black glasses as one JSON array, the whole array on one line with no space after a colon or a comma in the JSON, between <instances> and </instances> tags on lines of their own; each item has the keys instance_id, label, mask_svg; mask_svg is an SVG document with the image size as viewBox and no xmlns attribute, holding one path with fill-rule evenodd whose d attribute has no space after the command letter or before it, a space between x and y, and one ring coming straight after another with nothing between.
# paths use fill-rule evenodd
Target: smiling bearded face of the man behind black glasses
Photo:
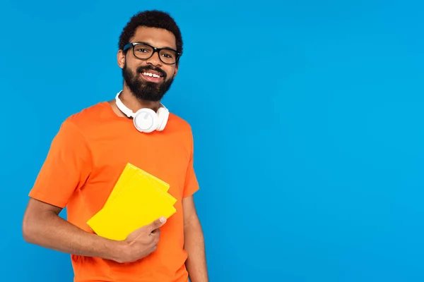
<instances>
[{"instance_id":1,"label":"smiling bearded face of the man behind black glasses","mask_svg":"<svg viewBox=\"0 0 424 282\"><path fill-rule=\"evenodd\" d=\"M130 42L146 42L153 47L169 47L177 49L175 36L167 30L153 27L139 27ZM136 50L144 51L139 47ZM170 89L177 75L178 66L160 61L156 52L150 59L138 59L130 48L124 54L118 53L118 63L122 68L122 76L129 90L138 98L158 102ZM159 76L159 77L158 77Z\"/></svg>"}]
</instances>

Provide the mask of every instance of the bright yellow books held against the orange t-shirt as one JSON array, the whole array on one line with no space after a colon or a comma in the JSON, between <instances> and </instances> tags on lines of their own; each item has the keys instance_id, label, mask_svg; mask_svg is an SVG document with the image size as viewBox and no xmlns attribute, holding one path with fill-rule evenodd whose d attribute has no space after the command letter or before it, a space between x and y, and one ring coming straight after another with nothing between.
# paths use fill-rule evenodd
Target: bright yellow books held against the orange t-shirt
<instances>
[{"instance_id":1,"label":"bright yellow books held against the orange t-shirt","mask_svg":"<svg viewBox=\"0 0 424 282\"><path fill-rule=\"evenodd\" d=\"M126 164L105 205L87 224L97 235L124 240L137 228L175 214L177 200L167 192L169 188L163 180Z\"/></svg>"}]
</instances>

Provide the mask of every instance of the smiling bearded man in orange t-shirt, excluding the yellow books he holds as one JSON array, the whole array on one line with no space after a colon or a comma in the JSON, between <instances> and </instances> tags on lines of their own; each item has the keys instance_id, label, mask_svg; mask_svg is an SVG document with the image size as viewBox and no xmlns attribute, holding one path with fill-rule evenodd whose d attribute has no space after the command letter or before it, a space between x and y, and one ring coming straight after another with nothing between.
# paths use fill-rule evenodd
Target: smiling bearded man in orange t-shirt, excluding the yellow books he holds
<instances>
[{"instance_id":1,"label":"smiling bearded man in orange t-shirt, excluding the yellow books he holds","mask_svg":"<svg viewBox=\"0 0 424 282\"><path fill-rule=\"evenodd\" d=\"M119 37L122 92L66 118L52 141L30 191L23 236L71 254L74 281L208 281L193 200L199 185L192 131L160 103L181 54L179 27L167 13L132 17ZM169 183L177 212L126 240L102 238L87 221L105 204L127 163ZM64 207L68 221L59 217Z\"/></svg>"}]
</instances>

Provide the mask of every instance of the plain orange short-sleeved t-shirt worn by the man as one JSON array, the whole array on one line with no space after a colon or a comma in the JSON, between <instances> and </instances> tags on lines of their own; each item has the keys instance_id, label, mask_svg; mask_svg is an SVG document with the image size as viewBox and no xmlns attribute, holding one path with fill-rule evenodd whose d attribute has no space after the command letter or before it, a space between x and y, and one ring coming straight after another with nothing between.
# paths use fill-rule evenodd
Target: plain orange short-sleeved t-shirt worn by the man
<instances>
[{"instance_id":1,"label":"plain orange short-sleeved t-shirt worn by the man","mask_svg":"<svg viewBox=\"0 0 424 282\"><path fill-rule=\"evenodd\" d=\"M168 192L177 199L177 212L160 228L155 252L126 264L71 255L74 281L188 281L182 198L199 189L193 147L189 124L175 114L170 114L165 130L140 133L131 119L117 116L109 103L101 102L62 123L30 197L66 207L68 221L93 232L88 219L103 207L131 163L169 183Z\"/></svg>"}]
</instances>

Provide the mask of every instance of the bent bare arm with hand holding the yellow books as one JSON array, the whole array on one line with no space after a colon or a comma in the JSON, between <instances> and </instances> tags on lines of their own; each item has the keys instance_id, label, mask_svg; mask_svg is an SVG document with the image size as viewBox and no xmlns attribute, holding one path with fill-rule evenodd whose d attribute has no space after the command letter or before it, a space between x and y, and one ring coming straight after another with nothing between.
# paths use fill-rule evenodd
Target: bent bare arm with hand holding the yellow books
<instances>
[{"instance_id":1,"label":"bent bare arm with hand holding the yellow books","mask_svg":"<svg viewBox=\"0 0 424 282\"><path fill-rule=\"evenodd\" d=\"M140 259L155 250L159 229L155 221L140 228L124 241L102 238L83 231L59 216L61 208L30 198L23 218L23 238L26 242L59 252L87 257L129 262Z\"/></svg>"}]
</instances>

